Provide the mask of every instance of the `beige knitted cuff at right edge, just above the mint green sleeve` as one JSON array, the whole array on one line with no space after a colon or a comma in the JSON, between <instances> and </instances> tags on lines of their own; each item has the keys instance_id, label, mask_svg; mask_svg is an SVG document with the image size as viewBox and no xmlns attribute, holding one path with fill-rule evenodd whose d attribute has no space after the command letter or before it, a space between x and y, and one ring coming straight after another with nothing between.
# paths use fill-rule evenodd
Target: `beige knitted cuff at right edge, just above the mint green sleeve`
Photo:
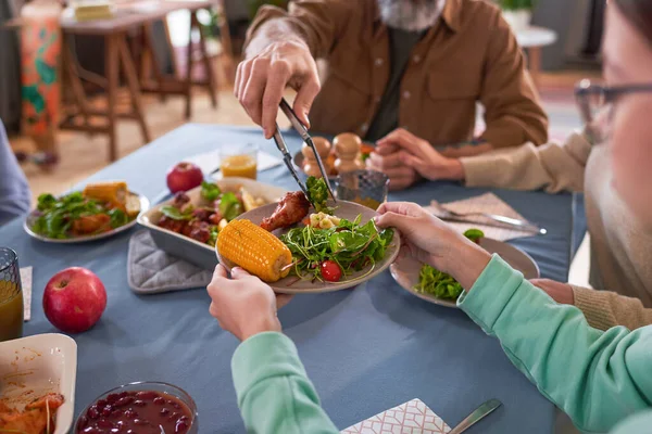
<instances>
[{"instance_id":1,"label":"beige knitted cuff at right edge, just above the mint green sleeve","mask_svg":"<svg viewBox=\"0 0 652 434\"><path fill-rule=\"evenodd\" d=\"M625 326L636 330L652 324L652 309L643 307L638 298L581 286L573 286L573 295L575 306L584 312L589 326L595 329Z\"/></svg>"}]
</instances>

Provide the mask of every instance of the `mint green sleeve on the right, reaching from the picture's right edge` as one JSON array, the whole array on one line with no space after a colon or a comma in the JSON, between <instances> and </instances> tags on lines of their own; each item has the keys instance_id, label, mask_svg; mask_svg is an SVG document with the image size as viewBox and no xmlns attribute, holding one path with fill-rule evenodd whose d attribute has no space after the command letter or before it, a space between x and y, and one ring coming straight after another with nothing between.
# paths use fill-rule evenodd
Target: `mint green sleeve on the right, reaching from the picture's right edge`
<instances>
[{"instance_id":1,"label":"mint green sleeve on the right, reaching from the picture's right edge","mask_svg":"<svg viewBox=\"0 0 652 434\"><path fill-rule=\"evenodd\" d=\"M459 306L586 432L652 406L652 327L589 327L494 255Z\"/></svg>"}]
</instances>

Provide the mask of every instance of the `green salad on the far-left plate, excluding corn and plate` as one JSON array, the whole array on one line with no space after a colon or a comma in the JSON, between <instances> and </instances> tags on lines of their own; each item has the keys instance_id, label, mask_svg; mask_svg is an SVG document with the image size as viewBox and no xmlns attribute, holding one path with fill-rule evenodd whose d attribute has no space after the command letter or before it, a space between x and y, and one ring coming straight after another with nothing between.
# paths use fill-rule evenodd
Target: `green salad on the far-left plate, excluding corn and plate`
<instances>
[{"instance_id":1,"label":"green salad on the far-left plate, excluding corn and plate","mask_svg":"<svg viewBox=\"0 0 652 434\"><path fill-rule=\"evenodd\" d=\"M38 196L37 215L32 230L53 239L68 239L110 231L133 218L116 207L74 192L61 197Z\"/></svg>"}]
</instances>

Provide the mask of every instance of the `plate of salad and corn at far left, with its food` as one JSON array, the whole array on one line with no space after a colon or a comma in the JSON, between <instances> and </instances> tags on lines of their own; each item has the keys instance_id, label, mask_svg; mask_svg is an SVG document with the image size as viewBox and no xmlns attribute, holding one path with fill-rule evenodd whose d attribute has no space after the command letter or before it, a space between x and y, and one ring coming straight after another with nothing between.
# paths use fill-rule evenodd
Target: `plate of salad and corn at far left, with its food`
<instances>
[{"instance_id":1,"label":"plate of salad and corn at far left, with its food","mask_svg":"<svg viewBox=\"0 0 652 434\"><path fill-rule=\"evenodd\" d=\"M124 181L96 182L59 197L41 194L23 227L50 243L93 241L131 228L148 207L148 199L129 191Z\"/></svg>"}]
</instances>

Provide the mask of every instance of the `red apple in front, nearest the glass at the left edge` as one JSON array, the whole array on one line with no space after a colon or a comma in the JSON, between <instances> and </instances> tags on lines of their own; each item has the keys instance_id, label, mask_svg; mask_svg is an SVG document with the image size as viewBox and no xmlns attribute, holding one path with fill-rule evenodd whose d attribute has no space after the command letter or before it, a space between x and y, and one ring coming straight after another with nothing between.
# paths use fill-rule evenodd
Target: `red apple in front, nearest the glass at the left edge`
<instances>
[{"instance_id":1,"label":"red apple in front, nearest the glass at the left edge","mask_svg":"<svg viewBox=\"0 0 652 434\"><path fill-rule=\"evenodd\" d=\"M43 293L43 310L48 320L65 333L90 329L106 307L104 284L90 270L66 268L52 276Z\"/></svg>"}]
</instances>

